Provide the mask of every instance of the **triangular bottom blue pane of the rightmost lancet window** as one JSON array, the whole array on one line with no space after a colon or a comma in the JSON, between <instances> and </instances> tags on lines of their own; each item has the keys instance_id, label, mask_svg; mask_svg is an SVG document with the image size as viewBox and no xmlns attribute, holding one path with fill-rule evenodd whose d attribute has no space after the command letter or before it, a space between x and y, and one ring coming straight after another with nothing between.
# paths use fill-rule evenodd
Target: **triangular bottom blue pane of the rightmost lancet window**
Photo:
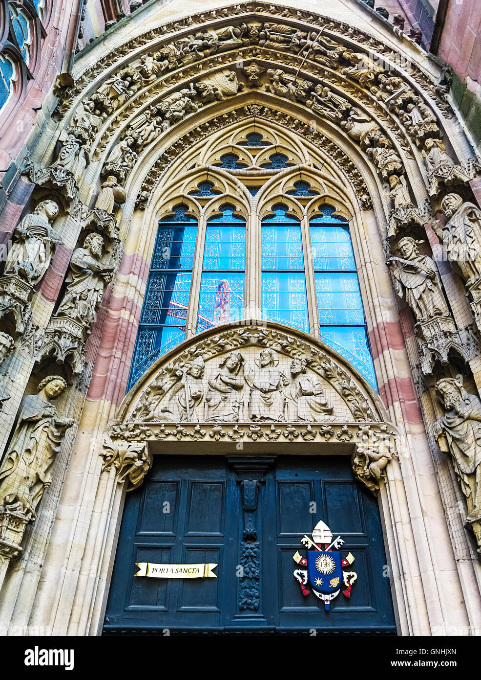
<instances>
[{"instance_id":1,"label":"triangular bottom blue pane of the rightmost lancet window","mask_svg":"<svg viewBox=\"0 0 481 680\"><path fill-rule=\"evenodd\" d=\"M326 345L346 358L368 383L377 390L374 364L370 353L366 328L364 326L321 326L321 339Z\"/></svg>"}]
</instances>

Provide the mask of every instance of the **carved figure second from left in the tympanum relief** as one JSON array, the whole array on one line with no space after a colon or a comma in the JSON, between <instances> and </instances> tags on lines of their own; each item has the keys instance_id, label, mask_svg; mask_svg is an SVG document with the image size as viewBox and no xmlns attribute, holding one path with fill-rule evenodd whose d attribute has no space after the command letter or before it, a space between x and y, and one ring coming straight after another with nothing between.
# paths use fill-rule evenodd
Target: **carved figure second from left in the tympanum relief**
<instances>
[{"instance_id":1,"label":"carved figure second from left in the tympanum relief","mask_svg":"<svg viewBox=\"0 0 481 680\"><path fill-rule=\"evenodd\" d=\"M219 370L208 380L206 394L208 422L238 422L242 420L244 379L239 371L244 365L240 352L231 352L219 364Z\"/></svg>"}]
</instances>

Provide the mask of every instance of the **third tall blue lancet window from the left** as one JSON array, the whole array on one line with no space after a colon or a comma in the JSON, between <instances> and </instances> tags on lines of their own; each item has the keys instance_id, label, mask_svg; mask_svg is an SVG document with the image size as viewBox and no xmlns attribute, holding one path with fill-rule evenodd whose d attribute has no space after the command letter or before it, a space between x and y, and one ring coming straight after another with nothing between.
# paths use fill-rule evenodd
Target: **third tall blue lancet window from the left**
<instances>
[{"instance_id":1,"label":"third tall blue lancet window from the left","mask_svg":"<svg viewBox=\"0 0 481 680\"><path fill-rule=\"evenodd\" d=\"M309 332L301 225L273 208L262 226L262 306L271 321Z\"/></svg>"}]
</instances>

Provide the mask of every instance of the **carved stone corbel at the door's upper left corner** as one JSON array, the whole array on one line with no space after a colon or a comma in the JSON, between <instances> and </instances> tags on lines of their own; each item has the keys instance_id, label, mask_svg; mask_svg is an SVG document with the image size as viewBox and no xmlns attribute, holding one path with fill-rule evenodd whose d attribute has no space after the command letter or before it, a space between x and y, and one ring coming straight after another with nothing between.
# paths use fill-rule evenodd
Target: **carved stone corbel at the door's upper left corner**
<instances>
[{"instance_id":1,"label":"carved stone corbel at the door's upper left corner","mask_svg":"<svg viewBox=\"0 0 481 680\"><path fill-rule=\"evenodd\" d=\"M104 441L102 472L115 469L117 481L126 491L137 489L152 467L153 458L145 441Z\"/></svg>"}]
</instances>

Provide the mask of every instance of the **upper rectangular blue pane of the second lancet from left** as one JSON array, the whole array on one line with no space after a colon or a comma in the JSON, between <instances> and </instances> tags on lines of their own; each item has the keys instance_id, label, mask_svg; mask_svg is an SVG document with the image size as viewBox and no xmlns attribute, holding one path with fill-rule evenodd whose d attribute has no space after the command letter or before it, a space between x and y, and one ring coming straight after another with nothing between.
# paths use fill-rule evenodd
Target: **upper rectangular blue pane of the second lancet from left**
<instances>
[{"instance_id":1,"label":"upper rectangular blue pane of the second lancet from left","mask_svg":"<svg viewBox=\"0 0 481 680\"><path fill-rule=\"evenodd\" d=\"M246 228L244 226L207 225L204 270L244 269L246 262Z\"/></svg>"}]
</instances>

